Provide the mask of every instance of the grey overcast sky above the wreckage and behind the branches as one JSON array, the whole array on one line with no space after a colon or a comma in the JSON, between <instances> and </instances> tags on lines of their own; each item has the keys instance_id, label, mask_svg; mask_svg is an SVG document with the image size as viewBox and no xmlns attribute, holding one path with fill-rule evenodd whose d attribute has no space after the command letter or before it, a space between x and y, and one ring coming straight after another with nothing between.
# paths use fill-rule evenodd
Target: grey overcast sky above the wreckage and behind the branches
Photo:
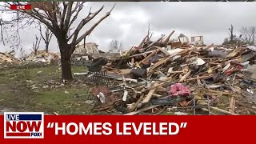
<instances>
[{"instance_id":1,"label":"grey overcast sky above the wreckage and behind the branches","mask_svg":"<svg viewBox=\"0 0 256 144\"><path fill-rule=\"evenodd\" d=\"M90 6L94 11L103 5L102 13L90 24L106 14L114 3L86 3L73 26L77 26L86 16ZM206 44L221 44L228 36L230 24L234 25L236 32L241 26L256 26L256 2L117 2L110 17L95 28L86 42L98 43L99 49L106 51L110 40L117 39L129 49L142 41L149 23L154 38L175 30L172 38L177 38L181 33L188 37L203 35ZM83 31L89 26L85 26ZM38 34L38 30L34 28L21 33L22 47L27 52L30 52L35 34ZM44 48L43 42L40 47ZM9 46L1 44L0 51L6 50L9 50ZM50 42L50 50L58 51L56 38Z\"/></svg>"}]
</instances>

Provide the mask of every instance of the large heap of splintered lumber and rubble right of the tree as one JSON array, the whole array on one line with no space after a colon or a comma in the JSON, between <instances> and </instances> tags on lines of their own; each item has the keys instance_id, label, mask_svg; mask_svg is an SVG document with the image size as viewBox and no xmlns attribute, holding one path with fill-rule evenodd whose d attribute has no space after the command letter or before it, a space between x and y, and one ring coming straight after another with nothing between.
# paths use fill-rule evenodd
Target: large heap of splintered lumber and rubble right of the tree
<instances>
[{"instance_id":1,"label":"large heap of splintered lumber and rubble right of the tree","mask_svg":"<svg viewBox=\"0 0 256 144\"><path fill-rule=\"evenodd\" d=\"M164 110L243 114L236 104L254 94L256 81L247 76L246 68L255 61L256 47L171 42L173 33L154 42L148 34L120 58L98 58L86 65L86 78L94 85L94 110L126 115ZM223 99L227 102L221 103Z\"/></svg>"}]
</instances>

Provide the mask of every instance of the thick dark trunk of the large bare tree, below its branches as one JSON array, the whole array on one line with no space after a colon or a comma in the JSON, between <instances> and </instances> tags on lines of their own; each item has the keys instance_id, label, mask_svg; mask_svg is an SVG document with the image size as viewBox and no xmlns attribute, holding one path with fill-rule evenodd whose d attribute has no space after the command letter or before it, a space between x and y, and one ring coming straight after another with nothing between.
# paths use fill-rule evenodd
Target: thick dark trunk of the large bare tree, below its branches
<instances>
[{"instance_id":1,"label":"thick dark trunk of the large bare tree, below its branches","mask_svg":"<svg viewBox=\"0 0 256 144\"><path fill-rule=\"evenodd\" d=\"M61 52L61 63L62 63L62 79L63 80L73 80L71 73L71 64L70 64L70 45L66 42L59 42L59 49Z\"/></svg>"}]
</instances>

